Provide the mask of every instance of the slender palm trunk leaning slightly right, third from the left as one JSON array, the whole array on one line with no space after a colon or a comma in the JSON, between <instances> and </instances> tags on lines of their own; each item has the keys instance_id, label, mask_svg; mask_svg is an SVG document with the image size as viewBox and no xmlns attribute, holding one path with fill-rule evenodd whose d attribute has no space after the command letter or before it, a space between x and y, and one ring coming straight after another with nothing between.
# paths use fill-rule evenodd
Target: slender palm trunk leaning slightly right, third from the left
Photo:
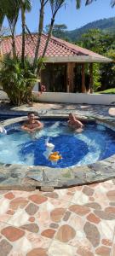
<instances>
[{"instance_id":1,"label":"slender palm trunk leaning slightly right, third from the left","mask_svg":"<svg viewBox=\"0 0 115 256\"><path fill-rule=\"evenodd\" d=\"M39 26L38 26L38 32L37 32L37 46L36 46L36 50L35 50L33 68L36 67L37 55L38 55L38 51L39 51L39 47L40 47L41 35L42 35L42 32L43 32L43 16L44 16L44 0L41 1Z\"/></svg>"}]
</instances>

